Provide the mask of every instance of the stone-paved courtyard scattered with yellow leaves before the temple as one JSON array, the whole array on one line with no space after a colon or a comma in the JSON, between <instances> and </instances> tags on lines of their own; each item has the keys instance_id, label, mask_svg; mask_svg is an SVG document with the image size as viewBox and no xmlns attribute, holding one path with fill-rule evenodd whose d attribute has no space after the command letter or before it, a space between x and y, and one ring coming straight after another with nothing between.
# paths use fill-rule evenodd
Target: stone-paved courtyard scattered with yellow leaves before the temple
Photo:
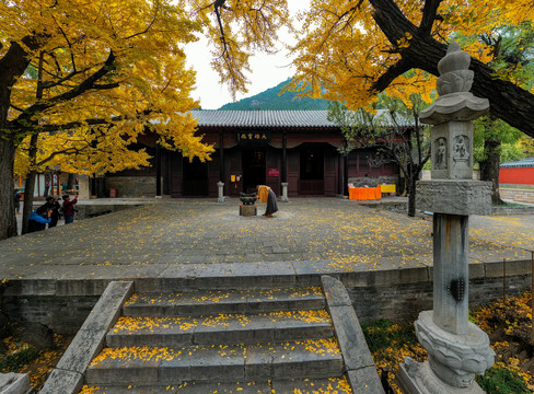
<instances>
[{"instance_id":1,"label":"stone-paved courtyard scattered with yellow leaves before the temple","mask_svg":"<svg viewBox=\"0 0 534 394\"><path fill-rule=\"evenodd\" d=\"M120 278L169 267L277 262L317 271L432 264L430 216L408 218L338 198L293 199L275 218L240 217L239 201L161 200L0 242L2 278ZM534 216L472 217L471 262L530 259Z\"/></svg>"}]
</instances>

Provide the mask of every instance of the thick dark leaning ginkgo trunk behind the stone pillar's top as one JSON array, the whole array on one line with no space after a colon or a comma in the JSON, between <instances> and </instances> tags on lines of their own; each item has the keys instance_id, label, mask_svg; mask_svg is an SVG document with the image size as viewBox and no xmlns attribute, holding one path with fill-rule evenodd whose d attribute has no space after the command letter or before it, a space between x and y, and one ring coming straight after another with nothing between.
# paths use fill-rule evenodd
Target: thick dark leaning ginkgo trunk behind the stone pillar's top
<instances>
[{"instance_id":1,"label":"thick dark leaning ginkgo trunk behind the stone pillar's top","mask_svg":"<svg viewBox=\"0 0 534 394\"><path fill-rule=\"evenodd\" d=\"M374 90L383 91L395 78L413 68L439 76L438 61L445 56L448 46L430 37L426 31L419 31L393 0L369 1L375 10L373 18L376 24L393 45L406 33L414 37L409 47L400 49L402 60L374 83ZM473 59L469 69L475 71L472 92L489 100L491 114L534 137L534 95L511 82L495 78L494 70L481 61Z\"/></svg>"}]
</instances>

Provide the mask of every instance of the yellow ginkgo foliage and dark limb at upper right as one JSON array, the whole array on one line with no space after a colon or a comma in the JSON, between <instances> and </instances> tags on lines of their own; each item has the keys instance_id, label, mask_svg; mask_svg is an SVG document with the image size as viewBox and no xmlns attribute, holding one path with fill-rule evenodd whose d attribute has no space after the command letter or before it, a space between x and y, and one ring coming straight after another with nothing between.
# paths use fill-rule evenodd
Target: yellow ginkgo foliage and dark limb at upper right
<instances>
[{"instance_id":1,"label":"yellow ginkgo foliage and dark limb at upper right","mask_svg":"<svg viewBox=\"0 0 534 394\"><path fill-rule=\"evenodd\" d=\"M292 47L298 69L292 83L304 82L352 109L382 91L405 100L420 93L428 101L436 86L428 74L439 76L438 61L455 35L491 34L507 24L532 24L533 16L531 0L312 0ZM463 49L474 58L472 92L489 99L496 117L534 136L532 92L488 66L492 48L484 42ZM417 72L406 78L409 70Z\"/></svg>"}]
</instances>

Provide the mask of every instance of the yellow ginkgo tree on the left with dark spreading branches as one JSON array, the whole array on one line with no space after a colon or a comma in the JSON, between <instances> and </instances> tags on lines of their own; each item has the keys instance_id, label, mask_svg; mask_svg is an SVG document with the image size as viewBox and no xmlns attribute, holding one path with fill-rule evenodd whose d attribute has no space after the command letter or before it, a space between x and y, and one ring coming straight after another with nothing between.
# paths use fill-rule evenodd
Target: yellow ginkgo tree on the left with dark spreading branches
<instances>
[{"instance_id":1,"label":"yellow ginkgo tree on the left with dark spreading branches","mask_svg":"<svg viewBox=\"0 0 534 394\"><path fill-rule=\"evenodd\" d=\"M86 157L86 169L105 171L103 162L117 169L126 157L142 164L147 157L128 146L150 130L161 146L207 160L212 148L195 135L195 72L183 46L206 34L212 67L235 93L249 54L269 50L287 23L285 0L0 1L0 239L16 234L19 146L31 147L34 136L43 153L30 171L46 155L65 165L69 150Z\"/></svg>"}]
</instances>

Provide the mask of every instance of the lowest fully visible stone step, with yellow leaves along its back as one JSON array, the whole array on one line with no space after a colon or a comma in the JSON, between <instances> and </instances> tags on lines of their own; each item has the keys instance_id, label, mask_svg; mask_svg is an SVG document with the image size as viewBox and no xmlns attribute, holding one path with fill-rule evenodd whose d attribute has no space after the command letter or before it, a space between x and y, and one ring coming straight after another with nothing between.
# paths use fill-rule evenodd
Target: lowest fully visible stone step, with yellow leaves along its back
<instances>
[{"instance_id":1,"label":"lowest fully visible stone step, with yellow leaves along its back","mask_svg":"<svg viewBox=\"0 0 534 394\"><path fill-rule=\"evenodd\" d=\"M344 361L335 338L257 345L106 348L89 366L92 385L169 385L184 381L340 378Z\"/></svg>"}]
</instances>

